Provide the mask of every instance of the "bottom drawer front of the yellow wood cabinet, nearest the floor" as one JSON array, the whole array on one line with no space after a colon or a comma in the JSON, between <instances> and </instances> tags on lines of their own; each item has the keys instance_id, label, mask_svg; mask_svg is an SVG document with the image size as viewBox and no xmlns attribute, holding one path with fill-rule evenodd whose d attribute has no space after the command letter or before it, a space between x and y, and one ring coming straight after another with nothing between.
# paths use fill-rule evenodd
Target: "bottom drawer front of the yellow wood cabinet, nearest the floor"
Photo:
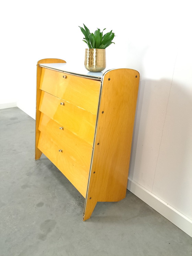
<instances>
[{"instance_id":1,"label":"bottom drawer front of the yellow wood cabinet, nearest the floor","mask_svg":"<svg viewBox=\"0 0 192 256\"><path fill-rule=\"evenodd\" d=\"M38 149L69 179L76 189L86 196L89 170L85 170L64 152L58 151L58 146L42 132L40 133Z\"/></svg>"}]
</instances>

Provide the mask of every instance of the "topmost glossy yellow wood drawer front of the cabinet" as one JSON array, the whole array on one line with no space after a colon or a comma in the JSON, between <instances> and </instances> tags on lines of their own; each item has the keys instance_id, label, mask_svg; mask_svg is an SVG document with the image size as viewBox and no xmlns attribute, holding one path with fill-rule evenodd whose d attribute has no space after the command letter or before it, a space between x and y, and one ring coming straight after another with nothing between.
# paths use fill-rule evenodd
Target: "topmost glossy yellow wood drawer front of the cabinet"
<instances>
[{"instance_id":1,"label":"topmost glossy yellow wood drawer front of the cabinet","mask_svg":"<svg viewBox=\"0 0 192 256\"><path fill-rule=\"evenodd\" d=\"M40 89L95 115L97 113L100 81L43 68Z\"/></svg>"}]
</instances>

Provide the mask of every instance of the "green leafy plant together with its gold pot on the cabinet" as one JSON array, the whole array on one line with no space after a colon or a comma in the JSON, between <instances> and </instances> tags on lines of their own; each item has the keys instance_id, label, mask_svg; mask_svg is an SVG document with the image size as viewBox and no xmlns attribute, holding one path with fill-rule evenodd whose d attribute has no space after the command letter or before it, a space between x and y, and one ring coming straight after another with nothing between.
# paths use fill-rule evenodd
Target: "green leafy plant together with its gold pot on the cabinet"
<instances>
[{"instance_id":1,"label":"green leafy plant together with its gold pot on the cabinet","mask_svg":"<svg viewBox=\"0 0 192 256\"><path fill-rule=\"evenodd\" d=\"M84 24L83 24L84 25ZM111 45L115 44L112 42L115 34L112 30L103 35L99 28L95 33L91 33L89 29L84 25L80 27L81 32L85 36L83 42L88 45L88 49L85 49L85 68L92 72L101 72L106 68L106 51L105 49Z\"/></svg>"}]
</instances>

